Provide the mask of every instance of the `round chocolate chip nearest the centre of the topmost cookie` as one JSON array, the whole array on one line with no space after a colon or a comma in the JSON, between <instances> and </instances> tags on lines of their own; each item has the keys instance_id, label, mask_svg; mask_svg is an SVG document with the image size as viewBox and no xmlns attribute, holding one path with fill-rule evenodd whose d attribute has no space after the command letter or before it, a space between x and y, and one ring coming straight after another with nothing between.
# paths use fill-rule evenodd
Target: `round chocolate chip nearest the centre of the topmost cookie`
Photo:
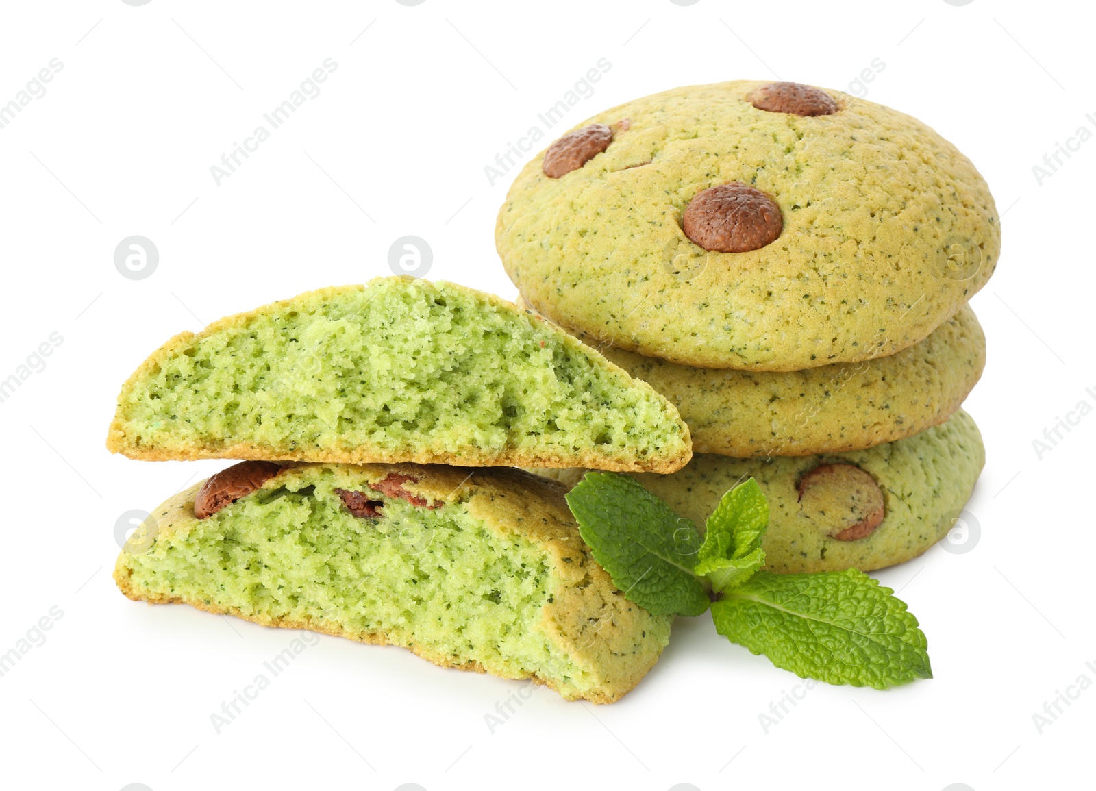
<instances>
[{"instance_id":1,"label":"round chocolate chip nearest the centre of the topmost cookie","mask_svg":"<svg viewBox=\"0 0 1096 791\"><path fill-rule=\"evenodd\" d=\"M689 200L682 225L685 236L705 250L745 253L780 236L784 219L780 207L768 195L732 181L709 187Z\"/></svg>"}]
</instances>

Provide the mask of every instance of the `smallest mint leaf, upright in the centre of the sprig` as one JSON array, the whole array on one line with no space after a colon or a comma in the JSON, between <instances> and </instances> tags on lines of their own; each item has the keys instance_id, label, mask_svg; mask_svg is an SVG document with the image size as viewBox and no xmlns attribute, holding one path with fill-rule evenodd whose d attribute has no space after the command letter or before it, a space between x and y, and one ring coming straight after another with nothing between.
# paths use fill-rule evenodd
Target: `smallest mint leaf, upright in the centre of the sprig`
<instances>
[{"instance_id":1,"label":"smallest mint leaf, upright in the centre of the sprig","mask_svg":"<svg viewBox=\"0 0 1096 791\"><path fill-rule=\"evenodd\" d=\"M717 592L745 583L765 563L762 538L768 528L768 501L750 479L729 491L708 517L694 571Z\"/></svg>"}]
</instances>

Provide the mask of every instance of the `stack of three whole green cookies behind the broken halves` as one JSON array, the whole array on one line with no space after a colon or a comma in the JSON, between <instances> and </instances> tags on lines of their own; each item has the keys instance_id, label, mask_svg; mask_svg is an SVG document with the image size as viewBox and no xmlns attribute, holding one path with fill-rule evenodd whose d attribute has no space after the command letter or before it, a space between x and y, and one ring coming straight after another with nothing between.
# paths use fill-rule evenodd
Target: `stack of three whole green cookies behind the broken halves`
<instances>
[{"instance_id":1,"label":"stack of three whole green cookies behind the broken halves","mask_svg":"<svg viewBox=\"0 0 1096 791\"><path fill-rule=\"evenodd\" d=\"M960 405L985 339L967 302L1001 229L917 119L798 83L666 91L529 162L495 239L528 307L688 423L692 462L644 486L703 525L757 480L769 570L909 560L969 498L984 449Z\"/></svg>"}]
</instances>

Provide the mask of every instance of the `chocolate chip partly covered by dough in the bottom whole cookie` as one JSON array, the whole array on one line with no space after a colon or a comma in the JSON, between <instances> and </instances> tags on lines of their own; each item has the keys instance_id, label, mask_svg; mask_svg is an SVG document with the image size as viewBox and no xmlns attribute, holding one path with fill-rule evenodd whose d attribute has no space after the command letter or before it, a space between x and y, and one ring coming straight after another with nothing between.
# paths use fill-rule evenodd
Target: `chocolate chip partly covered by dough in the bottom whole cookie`
<instances>
[{"instance_id":1,"label":"chocolate chip partly covered by dough in the bottom whole cookie","mask_svg":"<svg viewBox=\"0 0 1096 791\"><path fill-rule=\"evenodd\" d=\"M855 465L821 465L799 481L799 502L808 512L837 523L830 538L855 541L875 532L887 516L883 493L870 474Z\"/></svg>"}]
</instances>

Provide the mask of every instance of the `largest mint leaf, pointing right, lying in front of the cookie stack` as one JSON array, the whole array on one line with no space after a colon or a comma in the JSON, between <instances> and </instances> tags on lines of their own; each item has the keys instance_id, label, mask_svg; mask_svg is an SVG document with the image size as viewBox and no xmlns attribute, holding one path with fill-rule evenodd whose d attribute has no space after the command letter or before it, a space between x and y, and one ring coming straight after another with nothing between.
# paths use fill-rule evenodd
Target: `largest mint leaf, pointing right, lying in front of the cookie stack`
<instances>
[{"instance_id":1,"label":"largest mint leaf, pointing right, lying in front of the cookie stack","mask_svg":"<svg viewBox=\"0 0 1096 791\"><path fill-rule=\"evenodd\" d=\"M711 605L716 630L800 678L886 689L932 678L928 642L894 592L855 569L757 572Z\"/></svg>"}]
</instances>

